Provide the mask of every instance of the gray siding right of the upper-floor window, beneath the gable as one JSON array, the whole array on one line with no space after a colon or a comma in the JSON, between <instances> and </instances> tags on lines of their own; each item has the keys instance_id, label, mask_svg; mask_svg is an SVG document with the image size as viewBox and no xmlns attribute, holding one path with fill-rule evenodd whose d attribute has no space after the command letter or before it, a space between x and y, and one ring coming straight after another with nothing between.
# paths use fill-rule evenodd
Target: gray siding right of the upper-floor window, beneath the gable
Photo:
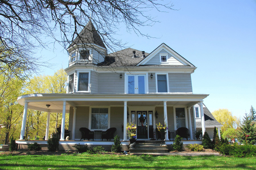
<instances>
[{"instance_id":1,"label":"gray siding right of the upper-floor window, beneath the gable","mask_svg":"<svg viewBox=\"0 0 256 170\"><path fill-rule=\"evenodd\" d=\"M192 83L190 73L168 73L169 91L192 93Z\"/></svg>"}]
</instances>

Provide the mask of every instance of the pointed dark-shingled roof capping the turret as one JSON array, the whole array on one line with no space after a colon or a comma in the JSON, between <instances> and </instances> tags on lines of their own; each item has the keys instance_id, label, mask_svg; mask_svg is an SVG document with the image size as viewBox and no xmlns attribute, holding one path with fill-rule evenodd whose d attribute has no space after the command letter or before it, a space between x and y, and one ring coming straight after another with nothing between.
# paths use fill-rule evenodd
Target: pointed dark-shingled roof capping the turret
<instances>
[{"instance_id":1,"label":"pointed dark-shingled roof capping the turret","mask_svg":"<svg viewBox=\"0 0 256 170\"><path fill-rule=\"evenodd\" d=\"M75 38L75 40L69 45L68 48L75 44L96 44L98 46L106 48L91 20L89 20L89 22L79 33L79 36Z\"/></svg>"}]
</instances>

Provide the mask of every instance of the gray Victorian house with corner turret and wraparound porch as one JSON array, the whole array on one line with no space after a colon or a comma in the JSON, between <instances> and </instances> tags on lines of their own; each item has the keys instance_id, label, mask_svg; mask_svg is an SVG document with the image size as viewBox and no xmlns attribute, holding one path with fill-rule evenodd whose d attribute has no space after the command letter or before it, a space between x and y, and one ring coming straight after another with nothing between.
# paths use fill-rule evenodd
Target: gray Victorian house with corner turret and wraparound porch
<instances>
[{"instance_id":1,"label":"gray Victorian house with corner turret and wraparound porch","mask_svg":"<svg viewBox=\"0 0 256 170\"><path fill-rule=\"evenodd\" d=\"M48 112L46 140L49 137L50 112L62 112L62 125L69 113L71 140L64 139L61 126L61 145L75 143L111 147L113 141L79 141L79 129L85 127L95 133L115 127L123 147L128 147L127 122L137 124L137 140L149 140L157 123L167 124L175 134L180 127L189 129L190 141L195 141L195 129L200 124L205 131L203 99L208 94L193 94L191 74L195 67L165 43L152 52L126 48L108 54L107 48L91 21L69 46L69 65L65 69L67 94L27 94L18 97L24 106L20 148L24 141L27 109ZM199 103L199 119L195 118L194 105ZM146 117L142 126L139 117ZM197 124L199 123L199 124ZM166 134L166 139L168 139ZM191 142L193 141L193 142ZM46 141L40 141L46 144ZM167 145L172 141L166 142Z\"/></svg>"}]
</instances>

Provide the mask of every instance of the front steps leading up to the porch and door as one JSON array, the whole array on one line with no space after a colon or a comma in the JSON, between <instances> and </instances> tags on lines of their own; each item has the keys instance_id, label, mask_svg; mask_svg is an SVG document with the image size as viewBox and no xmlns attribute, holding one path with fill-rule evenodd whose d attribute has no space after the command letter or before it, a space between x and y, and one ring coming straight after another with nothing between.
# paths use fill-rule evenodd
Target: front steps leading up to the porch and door
<instances>
[{"instance_id":1,"label":"front steps leading up to the porch and door","mask_svg":"<svg viewBox=\"0 0 256 170\"><path fill-rule=\"evenodd\" d=\"M129 149L130 155L141 155L144 153L168 153L167 146L163 141L136 141L134 149Z\"/></svg>"}]
</instances>

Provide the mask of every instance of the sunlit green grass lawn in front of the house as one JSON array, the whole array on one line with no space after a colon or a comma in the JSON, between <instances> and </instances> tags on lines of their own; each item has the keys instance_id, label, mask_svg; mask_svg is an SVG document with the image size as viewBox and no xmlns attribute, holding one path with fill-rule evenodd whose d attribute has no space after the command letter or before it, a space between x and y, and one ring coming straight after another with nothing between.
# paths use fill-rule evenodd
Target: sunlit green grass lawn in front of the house
<instances>
[{"instance_id":1,"label":"sunlit green grass lawn in front of the house","mask_svg":"<svg viewBox=\"0 0 256 170\"><path fill-rule=\"evenodd\" d=\"M225 156L25 155L0 156L0 169L256 169L256 158Z\"/></svg>"}]
</instances>

